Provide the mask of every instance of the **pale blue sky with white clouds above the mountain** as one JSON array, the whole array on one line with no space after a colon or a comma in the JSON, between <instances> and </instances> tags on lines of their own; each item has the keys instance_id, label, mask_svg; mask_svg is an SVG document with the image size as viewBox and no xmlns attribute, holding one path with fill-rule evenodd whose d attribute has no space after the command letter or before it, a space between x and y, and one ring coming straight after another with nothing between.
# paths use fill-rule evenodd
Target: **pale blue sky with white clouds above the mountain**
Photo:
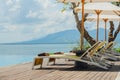
<instances>
[{"instance_id":1,"label":"pale blue sky with white clouds above the mountain","mask_svg":"<svg viewBox=\"0 0 120 80\"><path fill-rule=\"evenodd\" d=\"M56 0L0 0L0 43L20 42L76 29L72 10ZM95 29L95 24L88 30ZM103 25L101 26L103 27Z\"/></svg>"}]
</instances>

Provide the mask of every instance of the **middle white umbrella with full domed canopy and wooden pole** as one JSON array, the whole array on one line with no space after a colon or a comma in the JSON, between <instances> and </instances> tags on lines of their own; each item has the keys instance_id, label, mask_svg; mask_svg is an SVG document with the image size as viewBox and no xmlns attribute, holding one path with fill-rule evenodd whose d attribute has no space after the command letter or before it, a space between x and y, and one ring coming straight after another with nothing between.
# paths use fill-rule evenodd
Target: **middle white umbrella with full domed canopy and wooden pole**
<instances>
[{"instance_id":1,"label":"middle white umbrella with full domed canopy and wooden pole","mask_svg":"<svg viewBox=\"0 0 120 80\"><path fill-rule=\"evenodd\" d=\"M75 12L79 12L82 9L80 5L75 9ZM101 3L86 3L84 5L84 9L86 13L95 13L97 14L97 36L96 41L98 41L98 28L99 28L99 15L100 14L110 14L110 15L120 15L120 7L113 5L108 2Z\"/></svg>"}]
</instances>

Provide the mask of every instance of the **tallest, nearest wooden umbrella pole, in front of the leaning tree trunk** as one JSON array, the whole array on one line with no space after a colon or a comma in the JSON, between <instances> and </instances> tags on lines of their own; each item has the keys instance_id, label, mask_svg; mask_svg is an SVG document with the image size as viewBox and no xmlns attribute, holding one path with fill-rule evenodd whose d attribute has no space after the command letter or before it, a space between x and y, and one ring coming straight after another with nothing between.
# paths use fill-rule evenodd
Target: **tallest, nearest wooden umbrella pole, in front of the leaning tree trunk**
<instances>
[{"instance_id":1,"label":"tallest, nearest wooden umbrella pole, in front of the leaning tree trunk","mask_svg":"<svg viewBox=\"0 0 120 80\"><path fill-rule=\"evenodd\" d=\"M81 36L80 36L80 50L83 50L84 45L84 3L85 0L82 0L82 27L81 27Z\"/></svg>"}]
</instances>

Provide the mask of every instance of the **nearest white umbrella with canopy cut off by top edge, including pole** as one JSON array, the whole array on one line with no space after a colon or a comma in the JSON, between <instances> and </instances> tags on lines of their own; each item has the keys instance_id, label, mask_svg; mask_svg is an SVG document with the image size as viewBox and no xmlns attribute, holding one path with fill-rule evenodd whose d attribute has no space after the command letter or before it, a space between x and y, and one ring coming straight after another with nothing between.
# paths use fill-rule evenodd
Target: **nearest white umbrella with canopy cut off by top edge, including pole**
<instances>
[{"instance_id":1,"label":"nearest white umbrella with canopy cut off by top edge, including pole","mask_svg":"<svg viewBox=\"0 0 120 80\"><path fill-rule=\"evenodd\" d=\"M58 0L59 2L66 3L66 2L82 2L82 31L81 31L81 45L80 48L82 50L83 43L84 43L84 3L85 2L120 2L120 0Z\"/></svg>"}]
</instances>

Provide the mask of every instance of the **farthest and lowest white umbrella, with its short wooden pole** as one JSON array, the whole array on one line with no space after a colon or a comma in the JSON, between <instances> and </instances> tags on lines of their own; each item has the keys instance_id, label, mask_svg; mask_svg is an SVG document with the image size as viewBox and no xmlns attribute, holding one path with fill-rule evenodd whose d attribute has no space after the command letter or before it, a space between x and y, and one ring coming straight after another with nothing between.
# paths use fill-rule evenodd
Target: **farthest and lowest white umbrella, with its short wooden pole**
<instances>
[{"instance_id":1,"label":"farthest and lowest white umbrella, with its short wooden pole","mask_svg":"<svg viewBox=\"0 0 120 80\"><path fill-rule=\"evenodd\" d=\"M104 22L105 22L105 34L104 34L104 36L105 36L105 41L107 40L107 38L106 38L106 23L107 23L107 21L120 21L120 16L117 16L117 15L100 15L99 16L99 19L100 20L103 20ZM89 15L88 17L87 17L87 20L88 21L96 21L97 20L97 15Z\"/></svg>"}]
</instances>

